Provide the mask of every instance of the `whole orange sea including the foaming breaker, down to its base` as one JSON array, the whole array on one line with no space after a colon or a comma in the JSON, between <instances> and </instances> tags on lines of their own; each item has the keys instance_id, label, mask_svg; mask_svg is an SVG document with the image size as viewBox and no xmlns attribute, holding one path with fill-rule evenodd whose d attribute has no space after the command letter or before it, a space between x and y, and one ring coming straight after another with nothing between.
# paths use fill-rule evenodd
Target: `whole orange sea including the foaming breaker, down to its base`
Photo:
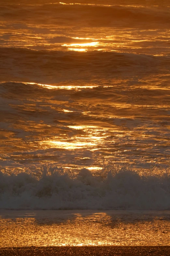
<instances>
[{"instance_id":1,"label":"whole orange sea including the foaming breaker, down to its base","mask_svg":"<svg viewBox=\"0 0 170 256\"><path fill-rule=\"evenodd\" d=\"M0 208L170 209L169 0L0 7Z\"/></svg>"}]
</instances>

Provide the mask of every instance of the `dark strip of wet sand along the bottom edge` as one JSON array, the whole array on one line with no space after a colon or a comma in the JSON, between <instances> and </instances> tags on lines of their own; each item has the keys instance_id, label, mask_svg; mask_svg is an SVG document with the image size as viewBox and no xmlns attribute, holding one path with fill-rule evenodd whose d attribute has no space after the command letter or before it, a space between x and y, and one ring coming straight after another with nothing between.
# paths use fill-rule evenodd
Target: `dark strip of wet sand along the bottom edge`
<instances>
[{"instance_id":1,"label":"dark strip of wet sand along the bottom edge","mask_svg":"<svg viewBox=\"0 0 170 256\"><path fill-rule=\"evenodd\" d=\"M92 255L92 256L144 256L170 255L170 246L84 246L84 247L7 247L0 248L1 256L54 256L54 255Z\"/></svg>"}]
</instances>

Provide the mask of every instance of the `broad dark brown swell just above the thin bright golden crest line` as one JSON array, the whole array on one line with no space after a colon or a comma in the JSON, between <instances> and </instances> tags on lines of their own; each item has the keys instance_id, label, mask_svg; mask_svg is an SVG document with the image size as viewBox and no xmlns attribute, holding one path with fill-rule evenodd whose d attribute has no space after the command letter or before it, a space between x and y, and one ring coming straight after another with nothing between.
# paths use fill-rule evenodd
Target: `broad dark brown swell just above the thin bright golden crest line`
<instances>
[{"instance_id":1,"label":"broad dark brown swell just above the thin bright golden crest line","mask_svg":"<svg viewBox=\"0 0 170 256\"><path fill-rule=\"evenodd\" d=\"M50 84L115 76L168 73L170 59L114 52L34 51L0 48L0 81Z\"/></svg>"}]
</instances>

